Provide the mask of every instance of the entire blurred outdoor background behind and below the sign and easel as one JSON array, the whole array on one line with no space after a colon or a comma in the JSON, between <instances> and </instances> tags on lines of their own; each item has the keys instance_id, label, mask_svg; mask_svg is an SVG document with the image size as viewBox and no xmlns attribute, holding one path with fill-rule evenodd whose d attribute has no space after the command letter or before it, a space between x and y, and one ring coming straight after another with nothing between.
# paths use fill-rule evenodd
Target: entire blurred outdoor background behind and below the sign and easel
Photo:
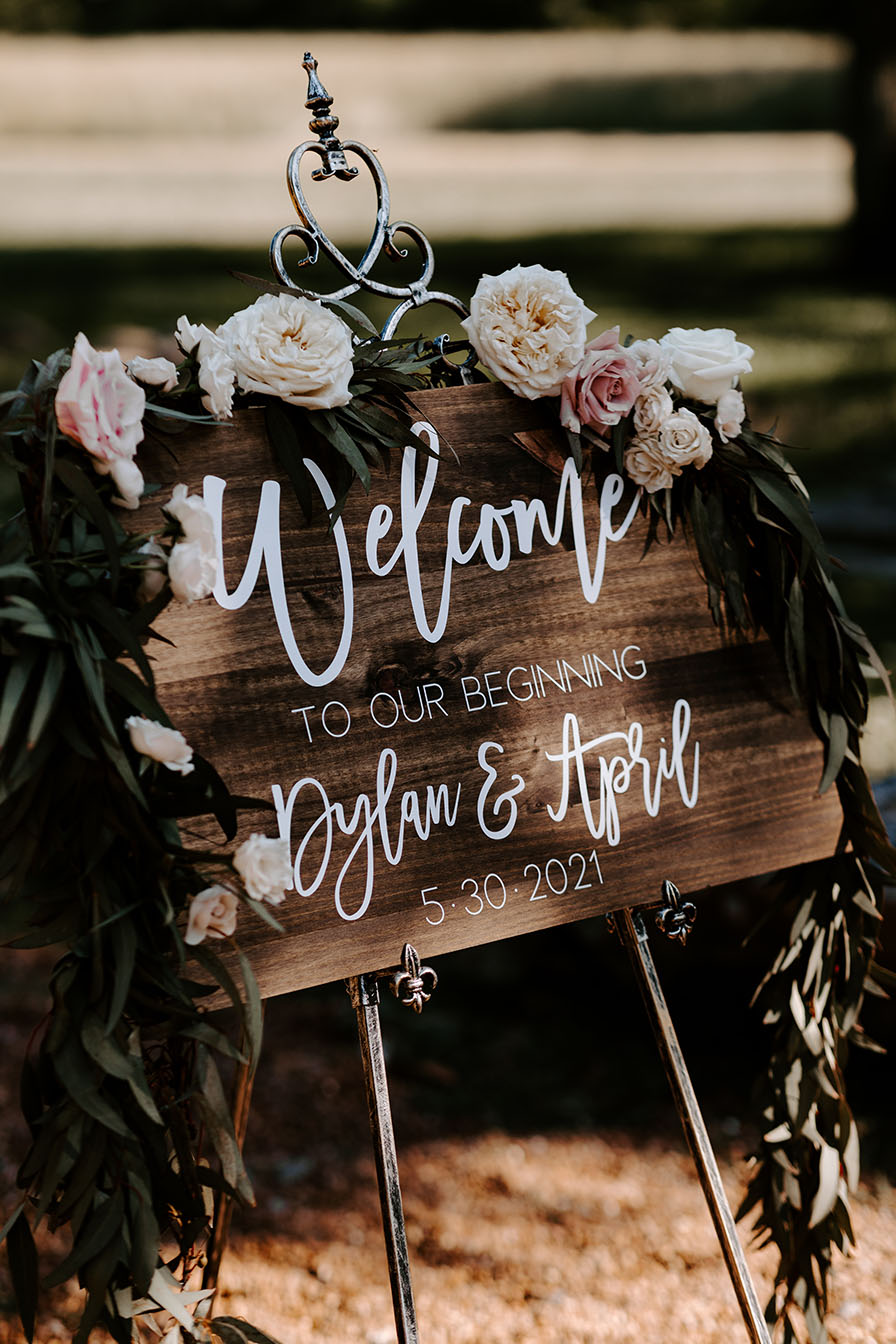
<instances>
[{"instance_id":1,"label":"entire blurred outdoor background behind and below the sign and easel","mask_svg":"<svg viewBox=\"0 0 896 1344\"><path fill-rule=\"evenodd\" d=\"M600 321L619 323L623 335L732 327L755 348L754 423L793 445L822 531L848 566L848 609L893 667L893 0L854 0L848 12L830 0L455 0L450 11L423 0L330 0L329 28L317 31L321 12L278 0L0 0L1 384L15 386L31 356L70 345L78 331L95 345L117 344L125 358L169 353L180 313L215 325L251 301L230 271L269 274L269 241L294 220L285 167L308 138L301 59L312 50L340 134L368 144L383 163L392 219L412 220L433 241L438 288L467 298L484 271L541 262L567 271ZM329 181L308 194L330 237L360 255L373 223L372 187ZM310 271L301 281L318 288ZM426 312L419 320L427 335L443 321ZM896 728L880 695L865 758L893 817ZM686 952L660 949L697 1090L732 1160L752 1134L744 1116L766 1044L747 1004L775 930L746 954L740 941L772 899L750 888L707 900ZM887 941L893 965L896 939ZM4 996L7 1188L16 1156L12 1066L42 1001L36 969L16 962ZM584 1310L564 1238L586 1245L603 1219L607 1241L630 1253L627 1267L622 1251L603 1265L604 1279L631 1277L633 1265L642 1275L647 1262L665 1265L669 1284L657 1281L647 1298L678 1312L681 1302L664 1297L676 1296L682 1271L672 1242L703 1235L688 1222L703 1227L697 1192L696 1212L669 1196L674 1227L641 1227L626 1241L631 1208L658 1216L633 1172L649 1171L662 1185L662 1164L672 1161L669 1180L689 1181L622 950L603 929L568 927L458 953L438 969L443 988L422 1020L387 1015L416 1273L424 1301L430 1290L433 1298L426 1337L439 1340L443 1329L453 1344L486 1335L552 1340L540 1302L564 1344L643 1337L652 1325L634 1322L630 1304L607 1333L564 1320L564 1304ZM892 1009L876 1004L868 1025L892 1038ZM273 1001L267 1040L249 1138L261 1198L238 1223L238 1261L224 1277L244 1289L234 1289L230 1305L263 1324L257 1298L266 1297L273 1329L286 1294L294 1302L287 1340L306 1337L301 1317L317 1321L309 1339L353 1332L379 1344L391 1337L388 1300L341 986ZM877 1056L852 1068L870 1172L860 1220L885 1257L896 1208L875 1172L893 1164L893 1068ZM606 1152L587 1148L595 1126L609 1136ZM635 1167L625 1167L626 1153ZM618 1187L582 1193L591 1200L582 1214L591 1232L576 1230L574 1191L588 1163L613 1168ZM519 1232L529 1218L520 1210L531 1210L532 1181L540 1181L524 1179L532 1164L553 1231L525 1249L508 1227ZM743 1172L733 1171L736 1199ZM625 1172L627 1195L619 1192ZM455 1203L476 1207L477 1219L506 1212L508 1226L493 1227L510 1238L501 1320L493 1314L497 1261L489 1267L485 1251L470 1250L470 1226L450 1222L453 1180ZM281 1251L293 1279L253 1278L255 1261L278 1263ZM359 1289L368 1251L373 1306ZM700 1266L701 1257L715 1263L711 1234L693 1254ZM564 1267L541 1282L536 1261L543 1269L545 1257ZM869 1273L892 1281L892 1269ZM481 1333L467 1335L443 1304L449 1292L474 1294L480 1279L488 1284L477 1305ZM841 1282L832 1336L870 1340L880 1331L868 1289ZM707 1344L737 1328L721 1278L719 1300L715 1292L701 1281L705 1320L678 1322ZM860 1300L861 1324L850 1308ZM56 1316L43 1318L39 1339L69 1337L71 1304L54 1301ZM609 1301L595 1306L604 1324L615 1320ZM512 1304L523 1314L510 1321ZM660 1324L674 1335L677 1320L664 1314ZM15 1339L0 1320L0 1341Z\"/></svg>"}]
</instances>

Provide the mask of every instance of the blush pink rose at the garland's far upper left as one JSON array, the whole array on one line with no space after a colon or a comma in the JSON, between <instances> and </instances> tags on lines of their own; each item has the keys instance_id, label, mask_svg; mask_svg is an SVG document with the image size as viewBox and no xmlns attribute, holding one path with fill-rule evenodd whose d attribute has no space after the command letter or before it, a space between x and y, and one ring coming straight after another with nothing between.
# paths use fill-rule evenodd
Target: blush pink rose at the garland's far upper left
<instances>
[{"instance_id":1,"label":"blush pink rose at the garland's far upper left","mask_svg":"<svg viewBox=\"0 0 896 1344\"><path fill-rule=\"evenodd\" d=\"M128 376L117 349L94 349L78 332L55 405L59 429L90 453L101 476L113 462L133 458L144 437L146 394Z\"/></svg>"}]
</instances>

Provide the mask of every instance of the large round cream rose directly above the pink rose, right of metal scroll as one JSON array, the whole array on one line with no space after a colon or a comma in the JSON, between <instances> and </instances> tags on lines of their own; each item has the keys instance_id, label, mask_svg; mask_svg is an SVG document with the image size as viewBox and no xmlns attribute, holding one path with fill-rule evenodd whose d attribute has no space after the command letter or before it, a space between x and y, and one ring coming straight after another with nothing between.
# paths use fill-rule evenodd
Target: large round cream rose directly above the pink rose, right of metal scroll
<instances>
[{"instance_id":1,"label":"large round cream rose directly above the pink rose, right of metal scroll","mask_svg":"<svg viewBox=\"0 0 896 1344\"><path fill-rule=\"evenodd\" d=\"M461 327L476 353L517 396L559 396L584 358L595 317L562 270L514 266L482 276Z\"/></svg>"}]
</instances>

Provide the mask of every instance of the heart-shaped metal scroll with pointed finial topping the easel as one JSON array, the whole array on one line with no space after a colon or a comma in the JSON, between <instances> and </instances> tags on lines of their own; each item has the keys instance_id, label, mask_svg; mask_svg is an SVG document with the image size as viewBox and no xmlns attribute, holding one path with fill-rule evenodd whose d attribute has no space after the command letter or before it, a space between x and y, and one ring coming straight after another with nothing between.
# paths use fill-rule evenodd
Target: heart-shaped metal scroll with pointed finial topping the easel
<instances>
[{"instance_id":1,"label":"heart-shaped metal scroll with pointed finial topping the easel","mask_svg":"<svg viewBox=\"0 0 896 1344\"><path fill-rule=\"evenodd\" d=\"M281 228L274 234L270 245L270 259L277 280L281 285L287 285L290 289L297 290L306 298L317 298L329 302L348 298L351 294L356 294L361 289L386 298L399 298L399 305L390 313L383 327L383 337L386 339L394 335L399 321L406 313L414 308L419 308L422 304L443 304L461 317L466 317L469 314L469 309L459 301L459 298L454 298L453 294L446 294L441 290L429 289L435 261L433 257L433 247L426 234L423 234L416 224L411 224L403 219L394 224L390 223L390 190L379 159L367 148L367 145L360 144L357 140L337 140L334 132L339 125L339 118L329 110L333 99L317 78L317 62L310 56L310 54L306 54L302 65L308 70L309 75L308 101L305 106L314 113L310 129L317 132L320 140L306 140L304 144L293 149L289 156L286 181L289 185L289 194L293 198L296 212L302 223L287 224L285 228ZM336 243L326 237L321 226L317 223L310 206L308 204L300 179L300 165L305 155L309 152L317 155L324 164L322 168L314 169L312 180L320 181L326 177L352 180L356 177L357 168L348 165L345 153L356 155L369 169L376 187L376 223L373 226L373 233L371 234L371 241L368 242L364 255L357 265L349 261ZM379 280L373 280L371 277L371 270L383 251L392 261L399 261L408 255L407 247L400 247L396 243L395 238L398 234L404 234L419 250L422 263L420 271L408 285L386 285ZM347 284L339 289L330 290L329 293L317 293L316 290L298 285L290 274L283 258L283 245L290 238L298 238L308 249L308 254L294 262L294 266L313 266L314 262L318 261L321 253L325 253L341 274L347 277Z\"/></svg>"}]
</instances>

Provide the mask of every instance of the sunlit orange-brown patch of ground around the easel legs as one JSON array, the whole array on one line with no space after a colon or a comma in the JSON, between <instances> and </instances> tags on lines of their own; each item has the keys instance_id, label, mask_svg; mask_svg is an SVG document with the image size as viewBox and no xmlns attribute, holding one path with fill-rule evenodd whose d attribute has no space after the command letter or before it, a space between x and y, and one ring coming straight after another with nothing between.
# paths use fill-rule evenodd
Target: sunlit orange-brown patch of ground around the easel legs
<instances>
[{"instance_id":1,"label":"sunlit orange-brown patch of ground around the easel legs","mask_svg":"<svg viewBox=\"0 0 896 1344\"><path fill-rule=\"evenodd\" d=\"M743 1165L725 1163L735 1200ZM242 1316L283 1344L391 1344L386 1255L372 1163L266 1188L251 1232L224 1262L216 1314ZM492 1133L402 1154L412 1279L427 1344L729 1344L743 1322L689 1157L622 1133ZM317 1191L316 1187L317 1185ZM317 1198L322 1196L322 1198ZM833 1344L877 1344L896 1318L896 1193L865 1185L860 1250L838 1257ZM748 1251L762 1301L774 1254ZM38 1344L70 1339L77 1298L58 1294ZM0 1322L3 1344L21 1344Z\"/></svg>"}]
</instances>

